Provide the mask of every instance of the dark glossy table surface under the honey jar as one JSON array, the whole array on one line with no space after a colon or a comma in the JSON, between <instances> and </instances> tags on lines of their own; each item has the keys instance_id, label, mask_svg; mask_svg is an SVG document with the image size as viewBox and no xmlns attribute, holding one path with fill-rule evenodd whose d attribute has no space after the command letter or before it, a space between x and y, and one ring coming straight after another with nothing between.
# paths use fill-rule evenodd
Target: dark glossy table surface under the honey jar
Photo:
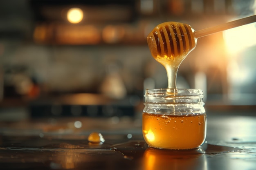
<instances>
[{"instance_id":1,"label":"dark glossy table surface under the honey jar","mask_svg":"<svg viewBox=\"0 0 256 170\"><path fill-rule=\"evenodd\" d=\"M88 141L94 131L104 143ZM130 117L1 122L0 169L256 170L256 117L207 115L206 141L193 150L148 148Z\"/></svg>"}]
</instances>

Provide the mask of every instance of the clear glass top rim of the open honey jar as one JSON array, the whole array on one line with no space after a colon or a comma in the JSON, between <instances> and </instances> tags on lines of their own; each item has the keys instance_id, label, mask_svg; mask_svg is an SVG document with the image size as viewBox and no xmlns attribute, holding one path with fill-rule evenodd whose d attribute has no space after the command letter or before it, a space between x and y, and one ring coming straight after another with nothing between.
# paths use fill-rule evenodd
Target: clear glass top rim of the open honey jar
<instances>
[{"instance_id":1,"label":"clear glass top rim of the open honey jar","mask_svg":"<svg viewBox=\"0 0 256 170\"><path fill-rule=\"evenodd\" d=\"M157 89L146 89L144 97L157 95L173 95L173 96L203 96L203 91L201 89L193 88L157 88Z\"/></svg>"}]
</instances>

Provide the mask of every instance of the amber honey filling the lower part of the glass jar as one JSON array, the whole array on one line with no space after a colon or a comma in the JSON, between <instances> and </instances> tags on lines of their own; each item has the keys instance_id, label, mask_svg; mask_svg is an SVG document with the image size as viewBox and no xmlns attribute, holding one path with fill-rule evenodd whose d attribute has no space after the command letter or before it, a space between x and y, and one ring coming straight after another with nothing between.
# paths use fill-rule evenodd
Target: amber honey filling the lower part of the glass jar
<instances>
[{"instance_id":1,"label":"amber honey filling the lower part of the glass jar","mask_svg":"<svg viewBox=\"0 0 256 170\"><path fill-rule=\"evenodd\" d=\"M143 113L142 132L150 147L192 149L206 136L206 114L161 115Z\"/></svg>"}]
</instances>

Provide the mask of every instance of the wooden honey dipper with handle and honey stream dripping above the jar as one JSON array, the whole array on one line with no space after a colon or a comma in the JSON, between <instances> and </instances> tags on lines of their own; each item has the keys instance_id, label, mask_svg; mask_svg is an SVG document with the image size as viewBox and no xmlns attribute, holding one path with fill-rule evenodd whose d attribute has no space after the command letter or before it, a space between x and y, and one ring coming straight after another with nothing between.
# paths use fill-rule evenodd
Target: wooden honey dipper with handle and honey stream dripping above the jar
<instances>
[{"instance_id":1,"label":"wooden honey dipper with handle and honey stream dripping above the jar","mask_svg":"<svg viewBox=\"0 0 256 170\"><path fill-rule=\"evenodd\" d=\"M252 22L256 22L256 15L200 31L193 30L188 24L164 22L149 33L147 42L152 56L166 68L168 88L176 88L176 75L180 63L195 48L198 38Z\"/></svg>"}]
</instances>

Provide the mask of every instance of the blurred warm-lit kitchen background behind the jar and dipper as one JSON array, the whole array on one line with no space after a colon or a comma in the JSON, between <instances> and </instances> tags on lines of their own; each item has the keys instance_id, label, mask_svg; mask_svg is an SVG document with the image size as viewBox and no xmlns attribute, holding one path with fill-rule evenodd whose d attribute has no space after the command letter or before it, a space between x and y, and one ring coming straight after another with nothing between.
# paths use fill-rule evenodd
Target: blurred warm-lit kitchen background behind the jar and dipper
<instances>
[{"instance_id":1,"label":"blurred warm-lit kitchen background behind the jar and dipper","mask_svg":"<svg viewBox=\"0 0 256 170\"><path fill-rule=\"evenodd\" d=\"M166 88L146 36L176 21L200 30L256 13L255 0L2 0L0 119L140 117ZM208 114L255 115L256 23L197 42L178 88L204 90Z\"/></svg>"}]
</instances>

